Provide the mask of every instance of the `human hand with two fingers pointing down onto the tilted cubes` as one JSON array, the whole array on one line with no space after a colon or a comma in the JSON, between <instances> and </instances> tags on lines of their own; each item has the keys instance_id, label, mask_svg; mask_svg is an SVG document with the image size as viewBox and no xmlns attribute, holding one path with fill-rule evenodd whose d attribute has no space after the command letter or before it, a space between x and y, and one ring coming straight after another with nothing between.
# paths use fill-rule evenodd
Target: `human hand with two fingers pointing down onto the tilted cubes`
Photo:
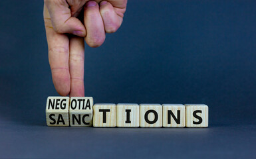
<instances>
[{"instance_id":1,"label":"human hand with two fingers pointing down onto the tilted cubes","mask_svg":"<svg viewBox=\"0 0 256 159\"><path fill-rule=\"evenodd\" d=\"M122 24L126 3L127 0L45 0L49 63L60 95L84 96L83 37L88 46L100 46L105 32L115 32ZM82 10L84 25L78 19Z\"/></svg>"}]
</instances>

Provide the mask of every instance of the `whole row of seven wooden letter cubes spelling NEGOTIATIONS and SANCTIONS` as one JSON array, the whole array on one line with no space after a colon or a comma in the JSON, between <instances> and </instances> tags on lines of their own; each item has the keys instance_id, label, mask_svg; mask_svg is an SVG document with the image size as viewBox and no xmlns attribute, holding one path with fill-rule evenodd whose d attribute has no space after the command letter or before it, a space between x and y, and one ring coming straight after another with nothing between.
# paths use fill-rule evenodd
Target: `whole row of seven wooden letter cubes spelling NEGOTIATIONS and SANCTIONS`
<instances>
[{"instance_id":1,"label":"whole row of seven wooden letter cubes spelling NEGOTIATIONS and SANCTIONS","mask_svg":"<svg viewBox=\"0 0 256 159\"><path fill-rule=\"evenodd\" d=\"M208 127L203 104L94 104L92 97L48 97L48 126Z\"/></svg>"}]
</instances>

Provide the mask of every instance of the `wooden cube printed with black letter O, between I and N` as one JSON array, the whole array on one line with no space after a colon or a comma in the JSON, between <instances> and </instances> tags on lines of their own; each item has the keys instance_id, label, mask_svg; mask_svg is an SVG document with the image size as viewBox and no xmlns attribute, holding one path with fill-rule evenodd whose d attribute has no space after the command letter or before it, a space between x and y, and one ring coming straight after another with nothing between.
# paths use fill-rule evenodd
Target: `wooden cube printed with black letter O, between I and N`
<instances>
[{"instance_id":1,"label":"wooden cube printed with black letter O, between I and N","mask_svg":"<svg viewBox=\"0 0 256 159\"><path fill-rule=\"evenodd\" d=\"M140 104L140 127L162 127L162 105Z\"/></svg>"}]
</instances>

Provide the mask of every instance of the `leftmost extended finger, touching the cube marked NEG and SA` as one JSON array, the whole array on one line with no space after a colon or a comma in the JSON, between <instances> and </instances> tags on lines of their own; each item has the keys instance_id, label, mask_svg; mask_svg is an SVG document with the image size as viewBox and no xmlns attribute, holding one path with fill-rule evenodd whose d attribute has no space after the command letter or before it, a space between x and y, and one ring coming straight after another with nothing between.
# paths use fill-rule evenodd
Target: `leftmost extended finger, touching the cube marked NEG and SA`
<instances>
[{"instance_id":1,"label":"leftmost extended finger, touching the cube marked NEG and SA","mask_svg":"<svg viewBox=\"0 0 256 159\"><path fill-rule=\"evenodd\" d=\"M49 63L55 89L60 95L66 96L70 91L70 74L68 68L69 40L65 34L53 29L51 17L44 6L45 30L49 48Z\"/></svg>"}]
</instances>

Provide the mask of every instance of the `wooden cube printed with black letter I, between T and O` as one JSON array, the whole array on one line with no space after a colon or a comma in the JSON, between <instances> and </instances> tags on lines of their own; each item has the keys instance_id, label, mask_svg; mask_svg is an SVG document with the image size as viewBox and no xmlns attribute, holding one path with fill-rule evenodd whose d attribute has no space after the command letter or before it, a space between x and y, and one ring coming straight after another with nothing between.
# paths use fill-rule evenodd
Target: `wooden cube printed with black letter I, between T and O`
<instances>
[{"instance_id":1,"label":"wooden cube printed with black letter I, between T and O","mask_svg":"<svg viewBox=\"0 0 256 159\"><path fill-rule=\"evenodd\" d=\"M116 105L116 127L139 127L140 109L138 104Z\"/></svg>"}]
</instances>

